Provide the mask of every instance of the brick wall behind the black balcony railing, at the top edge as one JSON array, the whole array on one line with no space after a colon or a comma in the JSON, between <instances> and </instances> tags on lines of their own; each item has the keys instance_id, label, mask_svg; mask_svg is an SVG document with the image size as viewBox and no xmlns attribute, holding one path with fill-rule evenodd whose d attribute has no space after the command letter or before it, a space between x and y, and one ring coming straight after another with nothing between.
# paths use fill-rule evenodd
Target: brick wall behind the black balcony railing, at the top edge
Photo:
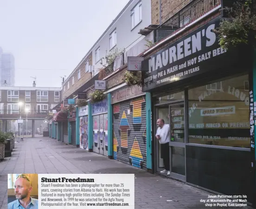
<instances>
[{"instance_id":1,"label":"brick wall behind the black balcony railing, at the top edge","mask_svg":"<svg viewBox=\"0 0 256 209\"><path fill-rule=\"evenodd\" d=\"M186 6L190 0L161 0L162 23ZM151 0L151 20L153 25L159 25L160 0Z\"/></svg>"}]
</instances>

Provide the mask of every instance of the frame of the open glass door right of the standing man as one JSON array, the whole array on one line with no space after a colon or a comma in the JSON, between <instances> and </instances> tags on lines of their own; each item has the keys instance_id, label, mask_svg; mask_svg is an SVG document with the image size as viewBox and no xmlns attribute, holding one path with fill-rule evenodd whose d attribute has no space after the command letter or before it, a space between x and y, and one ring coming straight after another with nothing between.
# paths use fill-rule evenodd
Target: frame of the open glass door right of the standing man
<instances>
[{"instance_id":1,"label":"frame of the open glass door right of the standing man","mask_svg":"<svg viewBox=\"0 0 256 209\"><path fill-rule=\"evenodd\" d=\"M172 136L172 130L171 130L171 107L173 106L177 106L177 105L183 105L183 113L184 113L184 142L175 142L175 141L169 141L169 158L170 158L170 177L173 177L175 179L179 179L182 181L186 181L186 100L184 100L183 102L173 102L171 104L169 104L169 124L170 124L170 137ZM172 172L172 146L175 147L182 147L184 148L184 160L185 160L185 176L178 174L178 173L174 173Z\"/></svg>"}]
</instances>

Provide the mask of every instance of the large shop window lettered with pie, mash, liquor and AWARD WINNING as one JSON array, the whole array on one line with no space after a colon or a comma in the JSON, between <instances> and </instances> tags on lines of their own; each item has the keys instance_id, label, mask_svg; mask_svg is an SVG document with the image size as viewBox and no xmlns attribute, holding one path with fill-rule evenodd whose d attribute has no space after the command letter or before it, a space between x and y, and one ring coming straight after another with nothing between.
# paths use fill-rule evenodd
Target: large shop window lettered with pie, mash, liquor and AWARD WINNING
<instances>
[{"instance_id":1,"label":"large shop window lettered with pie, mash, liquor and AWARD WINNING","mask_svg":"<svg viewBox=\"0 0 256 209\"><path fill-rule=\"evenodd\" d=\"M248 75L189 89L189 143L250 148L250 96L244 81Z\"/></svg>"}]
</instances>

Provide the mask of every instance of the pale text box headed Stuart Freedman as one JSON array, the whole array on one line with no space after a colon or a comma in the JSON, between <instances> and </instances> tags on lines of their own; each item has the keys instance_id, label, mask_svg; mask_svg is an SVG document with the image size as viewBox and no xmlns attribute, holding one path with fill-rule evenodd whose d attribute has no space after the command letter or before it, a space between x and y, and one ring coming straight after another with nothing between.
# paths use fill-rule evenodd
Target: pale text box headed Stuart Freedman
<instances>
[{"instance_id":1,"label":"pale text box headed Stuart Freedman","mask_svg":"<svg viewBox=\"0 0 256 209\"><path fill-rule=\"evenodd\" d=\"M38 174L39 209L134 209L134 174Z\"/></svg>"}]
</instances>

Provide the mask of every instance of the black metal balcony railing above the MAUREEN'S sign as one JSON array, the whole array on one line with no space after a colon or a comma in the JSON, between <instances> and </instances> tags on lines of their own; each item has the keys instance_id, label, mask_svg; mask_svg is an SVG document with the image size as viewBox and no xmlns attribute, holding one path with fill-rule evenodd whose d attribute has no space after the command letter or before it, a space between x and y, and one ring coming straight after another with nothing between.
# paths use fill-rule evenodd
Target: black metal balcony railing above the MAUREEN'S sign
<instances>
[{"instance_id":1,"label":"black metal balcony railing above the MAUREEN'S sign","mask_svg":"<svg viewBox=\"0 0 256 209\"><path fill-rule=\"evenodd\" d=\"M176 30L185 27L219 5L221 5L221 0L192 0L155 29L154 42L170 36Z\"/></svg>"}]
</instances>

